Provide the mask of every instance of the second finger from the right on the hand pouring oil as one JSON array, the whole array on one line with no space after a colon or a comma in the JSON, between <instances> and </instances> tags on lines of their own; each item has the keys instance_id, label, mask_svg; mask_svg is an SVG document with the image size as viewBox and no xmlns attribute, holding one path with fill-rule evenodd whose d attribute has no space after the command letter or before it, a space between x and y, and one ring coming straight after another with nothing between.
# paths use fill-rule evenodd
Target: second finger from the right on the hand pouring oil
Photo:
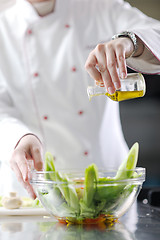
<instances>
[{"instance_id":1,"label":"second finger from the right on the hand pouring oil","mask_svg":"<svg viewBox=\"0 0 160 240\"><path fill-rule=\"evenodd\" d=\"M120 79L117 72L117 59L115 54L114 46L112 42L106 45L106 58L107 58L107 69L111 76L112 82L110 84L110 88L112 89L112 94L115 92L114 89L119 89L121 87Z\"/></svg>"}]
</instances>

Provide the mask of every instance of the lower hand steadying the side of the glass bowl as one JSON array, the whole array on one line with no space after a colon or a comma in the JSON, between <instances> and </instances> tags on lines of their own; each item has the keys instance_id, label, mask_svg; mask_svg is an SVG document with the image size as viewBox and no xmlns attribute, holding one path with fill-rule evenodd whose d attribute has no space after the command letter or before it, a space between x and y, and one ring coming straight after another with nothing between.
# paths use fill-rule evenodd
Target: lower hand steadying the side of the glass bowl
<instances>
[{"instance_id":1,"label":"lower hand steadying the side of the glass bowl","mask_svg":"<svg viewBox=\"0 0 160 240\"><path fill-rule=\"evenodd\" d=\"M34 135L22 137L10 159L10 166L15 172L18 181L28 191L29 195L35 199L36 194L29 183L28 164L32 160L36 170L42 170L43 147L39 139Z\"/></svg>"}]
</instances>

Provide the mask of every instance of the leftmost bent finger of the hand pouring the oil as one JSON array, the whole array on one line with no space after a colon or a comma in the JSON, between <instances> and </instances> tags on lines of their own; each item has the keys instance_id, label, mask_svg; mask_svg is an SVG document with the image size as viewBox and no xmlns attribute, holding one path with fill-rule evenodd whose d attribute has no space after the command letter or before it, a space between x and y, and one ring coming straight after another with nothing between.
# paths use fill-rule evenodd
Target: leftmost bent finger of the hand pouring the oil
<instances>
[{"instance_id":1,"label":"leftmost bent finger of the hand pouring the oil","mask_svg":"<svg viewBox=\"0 0 160 240\"><path fill-rule=\"evenodd\" d=\"M97 58L95 52L92 51L85 63L85 69L89 73L90 77L93 78L97 82L103 82L101 73L97 69Z\"/></svg>"}]
</instances>

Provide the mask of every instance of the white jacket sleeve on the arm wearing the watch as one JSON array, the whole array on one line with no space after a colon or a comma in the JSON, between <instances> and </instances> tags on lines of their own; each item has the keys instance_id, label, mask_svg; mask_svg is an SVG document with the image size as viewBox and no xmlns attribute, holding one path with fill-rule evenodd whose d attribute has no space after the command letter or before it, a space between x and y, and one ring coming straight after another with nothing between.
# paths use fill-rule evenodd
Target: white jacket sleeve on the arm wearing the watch
<instances>
[{"instance_id":1,"label":"white jacket sleeve on the arm wearing the watch","mask_svg":"<svg viewBox=\"0 0 160 240\"><path fill-rule=\"evenodd\" d=\"M127 65L147 74L160 73L160 21L146 16L122 0L113 1L112 19L115 34L132 31L145 46L141 56L127 59Z\"/></svg>"}]
</instances>

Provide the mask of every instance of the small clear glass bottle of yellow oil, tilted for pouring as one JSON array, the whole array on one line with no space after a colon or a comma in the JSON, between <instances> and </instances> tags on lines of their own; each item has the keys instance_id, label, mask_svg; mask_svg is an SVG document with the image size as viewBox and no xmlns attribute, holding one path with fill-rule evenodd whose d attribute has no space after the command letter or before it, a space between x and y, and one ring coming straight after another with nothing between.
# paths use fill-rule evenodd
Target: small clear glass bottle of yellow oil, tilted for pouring
<instances>
[{"instance_id":1,"label":"small clear glass bottle of yellow oil, tilted for pouring","mask_svg":"<svg viewBox=\"0 0 160 240\"><path fill-rule=\"evenodd\" d=\"M121 88L112 95L107 92L106 87L89 86L87 88L89 100L94 96L106 95L111 100L120 102L145 95L146 85L141 73L130 73L127 78L120 79L120 81Z\"/></svg>"}]
</instances>

